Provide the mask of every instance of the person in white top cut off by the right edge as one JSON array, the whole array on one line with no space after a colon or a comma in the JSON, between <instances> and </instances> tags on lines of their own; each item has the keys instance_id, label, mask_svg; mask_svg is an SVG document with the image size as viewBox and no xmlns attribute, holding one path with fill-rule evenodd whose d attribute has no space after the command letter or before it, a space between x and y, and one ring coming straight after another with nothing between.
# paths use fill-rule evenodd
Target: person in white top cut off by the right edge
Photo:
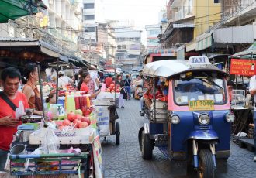
<instances>
[{"instance_id":1,"label":"person in white top cut off by the right edge","mask_svg":"<svg viewBox=\"0 0 256 178\"><path fill-rule=\"evenodd\" d=\"M249 91L252 97L254 97L254 145L256 145L256 75L251 77ZM256 162L256 150L254 152L254 162Z\"/></svg>"}]
</instances>

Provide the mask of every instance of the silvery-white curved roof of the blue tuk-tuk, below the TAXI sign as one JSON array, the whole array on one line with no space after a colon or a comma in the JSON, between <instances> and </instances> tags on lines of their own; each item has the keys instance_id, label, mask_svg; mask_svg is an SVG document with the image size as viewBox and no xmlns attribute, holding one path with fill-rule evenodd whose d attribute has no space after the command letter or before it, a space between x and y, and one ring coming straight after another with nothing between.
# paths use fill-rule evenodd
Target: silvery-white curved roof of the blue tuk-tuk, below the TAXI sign
<instances>
[{"instance_id":1,"label":"silvery-white curved roof of the blue tuk-tuk, below the TAXI sign","mask_svg":"<svg viewBox=\"0 0 256 178\"><path fill-rule=\"evenodd\" d=\"M199 67L192 67L189 65L188 60L159 60L156 62L148 63L144 66L143 74L147 76L154 77L172 77L176 74L182 74L185 72L193 71L193 70L202 70L202 71L216 71L217 73L221 73L224 76L228 74L224 71L220 70L218 67L213 64L207 64Z\"/></svg>"}]
</instances>

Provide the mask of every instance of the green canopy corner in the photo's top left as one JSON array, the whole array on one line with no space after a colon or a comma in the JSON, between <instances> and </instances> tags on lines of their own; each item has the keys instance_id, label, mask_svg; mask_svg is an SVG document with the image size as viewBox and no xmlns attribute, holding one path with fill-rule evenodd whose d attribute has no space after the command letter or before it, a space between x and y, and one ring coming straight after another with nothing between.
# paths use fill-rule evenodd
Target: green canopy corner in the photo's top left
<instances>
[{"instance_id":1,"label":"green canopy corner in the photo's top left","mask_svg":"<svg viewBox=\"0 0 256 178\"><path fill-rule=\"evenodd\" d=\"M47 8L42 0L1 0L0 23L6 23L9 19L15 20L22 16L36 14L39 7Z\"/></svg>"}]
</instances>

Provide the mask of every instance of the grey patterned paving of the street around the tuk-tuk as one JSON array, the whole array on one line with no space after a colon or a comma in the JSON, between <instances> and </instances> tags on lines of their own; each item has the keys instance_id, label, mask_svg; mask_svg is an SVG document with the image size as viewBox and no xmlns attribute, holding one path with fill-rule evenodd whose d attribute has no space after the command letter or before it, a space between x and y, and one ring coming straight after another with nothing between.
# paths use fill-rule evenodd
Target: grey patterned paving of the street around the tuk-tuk
<instances>
[{"instance_id":1,"label":"grey patterned paving of the street around the tuk-tuk","mask_svg":"<svg viewBox=\"0 0 256 178\"><path fill-rule=\"evenodd\" d=\"M140 102L126 101L125 108L118 108L120 122L120 145L116 145L114 135L102 140L102 169L104 177L195 177L190 175L175 175L171 170L171 162L157 149L154 149L153 159L148 161L141 157L138 143L138 131L144 118L139 115ZM231 143L231 156L227 162L227 173L216 173L216 177L255 178L256 163L252 161L253 152L241 149Z\"/></svg>"}]
</instances>

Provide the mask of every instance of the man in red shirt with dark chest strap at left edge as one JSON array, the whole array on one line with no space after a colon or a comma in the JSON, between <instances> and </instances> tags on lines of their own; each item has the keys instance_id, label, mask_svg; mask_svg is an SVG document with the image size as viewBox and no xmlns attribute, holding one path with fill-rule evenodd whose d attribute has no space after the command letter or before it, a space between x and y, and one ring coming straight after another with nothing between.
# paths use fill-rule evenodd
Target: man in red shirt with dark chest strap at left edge
<instances>
[{"instance_id":1,"label":"man in red shirt with dark chest strap at left edge","mask_svg":"<svg viewBox=\"0 0 256 178\"><path fill-rule=\"evenodd\" d=\"M19 70L14 67L2 70L1 82L3 91L1 92L16 105L16 108L19 106L19 101L23 102L24 108L29 108L26 96L18 91L20 78ZM17 126L20 125L21 122L16 118L16 111L14 111L2 97L0 97L0 106L0 171L2 171L5 167L13 135L16 134Z\"/></svg>"}]
</instances>

